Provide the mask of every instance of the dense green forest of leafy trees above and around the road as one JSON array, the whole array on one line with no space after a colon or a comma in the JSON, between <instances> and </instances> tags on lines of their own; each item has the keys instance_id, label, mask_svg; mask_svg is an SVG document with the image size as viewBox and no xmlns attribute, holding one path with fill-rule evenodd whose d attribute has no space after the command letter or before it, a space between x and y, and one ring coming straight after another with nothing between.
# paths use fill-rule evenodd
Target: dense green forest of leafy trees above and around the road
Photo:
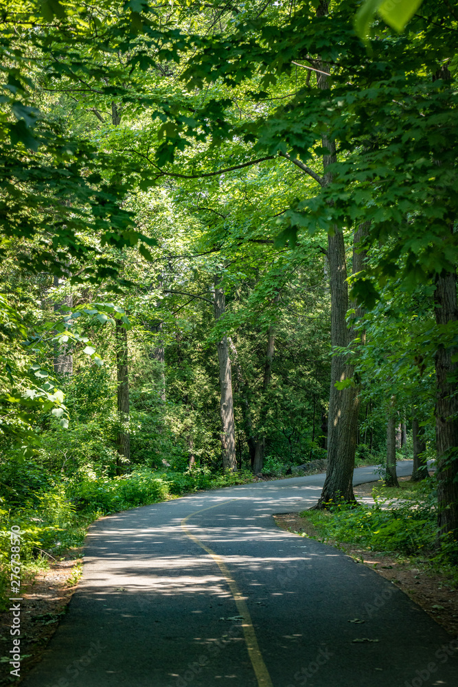
<instances>
[{"instance_id":1,"label":"dense green forest of leafy trees above and around the road","mask_svg":"<svg viewBox=\"0 0 458 687\"><path fill-rule=\"evenodd\" d=\"M33 567L323 465L354 508L404 458L457 561L458 6L376 5L2 0L2 593L12 526Z\"/></svg>"}]
</instances>

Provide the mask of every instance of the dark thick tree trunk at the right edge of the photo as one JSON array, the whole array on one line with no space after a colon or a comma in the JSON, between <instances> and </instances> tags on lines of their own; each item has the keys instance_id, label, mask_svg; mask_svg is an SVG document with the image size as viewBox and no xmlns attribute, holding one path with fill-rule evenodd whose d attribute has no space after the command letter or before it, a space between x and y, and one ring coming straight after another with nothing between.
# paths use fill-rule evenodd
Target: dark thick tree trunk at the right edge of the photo
<instances>
[{"instance_id":1,"label":"dark thick tree trunk at the right edge of the photo","mask_svg":"<svg viewBox=\"0 0 458 687\"><path fill-rule=\"evenodd\" d=\"M458 320L457 275L443 271L436 280L435 318L439 327ZM437 499L439 537L458 538L458 364L456 348L439 344L436 368Z\"/></svg>"}]
</instances>

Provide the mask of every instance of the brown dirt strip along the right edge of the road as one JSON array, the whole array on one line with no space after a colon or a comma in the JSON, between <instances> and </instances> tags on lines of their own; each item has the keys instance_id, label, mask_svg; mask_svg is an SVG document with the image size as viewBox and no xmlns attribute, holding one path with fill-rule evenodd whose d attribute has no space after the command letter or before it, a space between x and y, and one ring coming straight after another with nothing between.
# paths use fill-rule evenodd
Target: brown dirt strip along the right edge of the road
<instances>
[{"instance_id":1,"label":"brown dirt strip along the right edge of the road","mask_svg":"<svg viewBox=\"0 0 458 687\"><path fill-rule=\"evenodd\" d=\"M401 478L402 481L410 479ZM400 481L401 481L400 480ZM360 484L354 488L356 496L371 496L374 486L381 486L380 482ZM299 513L275 515L279 527L289 532L299 532L307 537L318 537L316 528L306 519L299 517ZM450 635L458 635L458 589L450 585L445 575L440 575L428 569L427 561L397 559L382 552L367 551L358 545L329 540L326 543L337 546L359 563L371 567L379 575L385 577L396 587L402 589L417 605L422 607L439 625L442 625Z\"/></svg>"}]
</instances>

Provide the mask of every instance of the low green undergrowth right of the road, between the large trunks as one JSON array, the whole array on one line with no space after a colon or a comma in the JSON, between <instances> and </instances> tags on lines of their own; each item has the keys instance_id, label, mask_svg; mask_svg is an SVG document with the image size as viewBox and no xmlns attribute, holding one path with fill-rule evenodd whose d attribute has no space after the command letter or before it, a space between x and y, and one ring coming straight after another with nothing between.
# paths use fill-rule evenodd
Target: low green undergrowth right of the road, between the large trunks
<instances>
[{"instance_id":1,"label":"low green undergrowth right of the road, between the large trunks","mask_svg":"<svg viewBox=\"0 0 458 687\"><path fill-rule=\"evenodd\" d=\"M453 563L458 542L444 539L438 552L437 495L434 480L404 482L400 487L376 487L374 504L334 503L326 510L304 510L317 532L315 539L329 543L350 543L396 556L417 556L433 567L450 573L458 582ZM453 572L455 570L455 572Z\"/></svg>"}]
</instances>

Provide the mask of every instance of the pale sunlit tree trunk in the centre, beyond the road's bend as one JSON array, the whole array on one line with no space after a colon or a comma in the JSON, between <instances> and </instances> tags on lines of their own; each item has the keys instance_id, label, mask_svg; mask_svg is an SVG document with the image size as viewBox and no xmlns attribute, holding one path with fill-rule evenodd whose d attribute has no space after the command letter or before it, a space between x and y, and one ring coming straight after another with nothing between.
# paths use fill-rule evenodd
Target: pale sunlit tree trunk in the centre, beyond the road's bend
<instances>
[{"instance_id":1,"label":"pale sunlit tree trunk in the centre, beyond the road's bend","mask_svg":"<svg viewBox=\"0 0 458 687\"><path fill-rule=\"evenodd\" d=\"M218 321L225 312L225 292L220 285L220 278L215 277L214 313ZM236 454L236 423L233 417L232 370L229 357L227 335L216 344L218 348L218 362L220 366L220 418L221 418L221 447L222 466L232 472L237 470Z\"/></svg>"}]
</instances>

